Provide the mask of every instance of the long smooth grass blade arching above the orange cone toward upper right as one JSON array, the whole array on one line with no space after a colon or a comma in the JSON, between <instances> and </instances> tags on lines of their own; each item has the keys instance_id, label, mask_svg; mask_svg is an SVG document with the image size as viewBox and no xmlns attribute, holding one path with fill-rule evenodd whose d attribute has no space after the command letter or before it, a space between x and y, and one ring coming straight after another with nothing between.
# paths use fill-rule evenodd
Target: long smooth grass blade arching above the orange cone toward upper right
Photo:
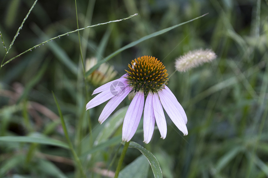
<instances>
[{"instance_id":1,"label":"long smooth grass blade arching above the orange cone toward upper right","mask_svg":"<svg viewBox=\"0 0 268 178\"><path fill-rule=\"evenodd\" d=\"M86 76L89 76L89 75L90 75L93 71L95 71L95 70L96 70L102 63L108 61L109 59L111 59L112 57L116 56L117 54L119 54L120 52L124 51L125 49L131 48L131 47L135 46L136 44L139 44L139 43L141 43L141 42L143 42L143 41L145 41L145 40L147 40L147 39L150 39L150 38L156 37L156 36L158 36L158 35L160 35L160 34L166 33L166 32L168 32L168 31L170 31L170 30L172 30L172 29L175 29L176 27L179 27L179 26L184 25L184 24L187 24L187 23L189 23L189 22L191 22L191 21L197 20L197 19L199 19L199 18L201 18L201 17L203 17L203 16L205 16L205 15L207 15L207 14L204 14L204 15L202 15L202 16L199 16L199 17L197 17L197 18L194 18L194 19L192 19L192 20L189 20L189 21L186 21L186 22L177 24L177 25L173 25L173 26L168 27L168 28L165 28L165 29L163 29L163 30L159 30L159 31L157 31L157 32L148 34L148 35L146 35L146 36L144 36L144 37L142 37L142 38L140 38L140 39L138 39L138 40L136 40L136 41L133 41L133 42L127 44L126 46L124 46L124 47L122 47L122 48L116 50L115 52L113 52L113 53L110 54L109 56L105 57L103 60L99 61L95 66L93 66L89 71L87 71Z\"/></svg>"}]
</instances>

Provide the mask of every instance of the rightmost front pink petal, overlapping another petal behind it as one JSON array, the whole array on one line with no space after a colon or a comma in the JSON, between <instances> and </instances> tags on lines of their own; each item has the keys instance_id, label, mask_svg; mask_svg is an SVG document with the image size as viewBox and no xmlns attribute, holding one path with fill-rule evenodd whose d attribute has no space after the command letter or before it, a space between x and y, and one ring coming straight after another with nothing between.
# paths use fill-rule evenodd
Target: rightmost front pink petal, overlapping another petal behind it
<instances>
[{"instance_id":1,"label":"rightmost front pink petal, overlapping another petal behind it","mask_svg":"<svg viewBox=\"0 0 268 178\"><path fill-rule=\"evenodd\" d=\"M175 99L172 95L170 95L169 90L167 89L162 89L162 91L159 90L158 95L171 121L175 124L175 126L178 127L180 131L182 131L184 135L188 135L188 130L185 121L182 117L182 113L177 108L179 103L177 99Z\"/></svg>"}]
</instances>

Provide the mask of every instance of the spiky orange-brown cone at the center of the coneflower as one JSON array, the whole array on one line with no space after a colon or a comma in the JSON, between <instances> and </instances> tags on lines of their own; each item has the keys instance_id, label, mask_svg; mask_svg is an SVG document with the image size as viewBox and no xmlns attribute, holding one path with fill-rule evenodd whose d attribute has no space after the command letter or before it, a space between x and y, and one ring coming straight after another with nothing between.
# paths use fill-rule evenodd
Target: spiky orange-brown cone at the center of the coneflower
<instances>
[{"instance_id":1,"label":"spiky orange-brown cone at the center of the coneflower","mask_svg":"<svg viewBox=\"0 0 268 178\"><path fill-rule=\"evenodd\" d=\"M127 71L127 70L125 70ZM134 92L142 90L144 95L149 91L157 93L167 84L168 73L165 66L152 56L142 56L128 64L128 84L134 88Z\"/></svg>"}]
</instances>

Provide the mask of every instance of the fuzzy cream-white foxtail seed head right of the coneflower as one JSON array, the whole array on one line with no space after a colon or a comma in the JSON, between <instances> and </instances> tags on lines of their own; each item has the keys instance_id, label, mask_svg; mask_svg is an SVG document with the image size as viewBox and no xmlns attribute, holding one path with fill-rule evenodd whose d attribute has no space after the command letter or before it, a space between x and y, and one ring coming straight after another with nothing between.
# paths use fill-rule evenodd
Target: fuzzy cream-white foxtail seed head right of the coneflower
<instances>
[{"instance_id":1,"label":"fuzzy cream-white foxtail seed head right of the coneflower","mask_svg":"<svg viewBox=\"0 0 268 178\"><path fill-rule=\"evenodd\" d=\"M217 55L211 49L189 51L176 59L175 69L180 72L185 72L202 65L204 62L211 62L216 59L216 57Z\"/></svg>"}]
</instances>

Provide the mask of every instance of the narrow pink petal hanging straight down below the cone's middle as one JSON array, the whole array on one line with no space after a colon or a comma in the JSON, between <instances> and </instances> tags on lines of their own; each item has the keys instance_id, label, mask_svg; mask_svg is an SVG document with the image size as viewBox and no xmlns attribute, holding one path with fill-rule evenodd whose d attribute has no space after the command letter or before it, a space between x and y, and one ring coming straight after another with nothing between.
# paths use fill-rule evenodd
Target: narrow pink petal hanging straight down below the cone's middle
<instances>
[{"instance_id":1,"label":"narrow pink petal hanging straight down below the cone's middle","mask_svg":"<svg viewBox=\"0 0 268 178\"><path fill-rule=\"evenodd\" d=\"M146 144L148 144L153 136L154 128L155 128L155 115L153 108L153 93L149 92L144 106L143 113L143 137Z\"/></svg>"}]
</instances>

